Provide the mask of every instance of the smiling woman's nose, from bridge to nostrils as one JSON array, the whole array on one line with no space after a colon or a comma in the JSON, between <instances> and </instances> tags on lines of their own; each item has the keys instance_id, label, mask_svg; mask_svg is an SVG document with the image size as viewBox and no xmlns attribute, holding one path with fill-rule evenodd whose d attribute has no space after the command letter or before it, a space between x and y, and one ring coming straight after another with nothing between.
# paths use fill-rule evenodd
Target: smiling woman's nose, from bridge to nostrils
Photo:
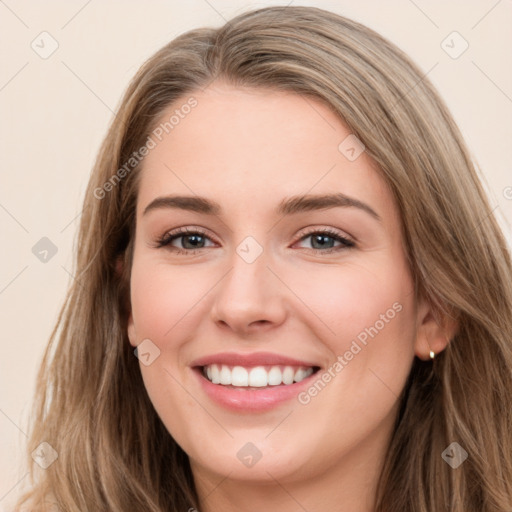
<instances>
[{"instance_id":1,"label":"smiling woman's nose, from bridge to nostrils","mask_svg":"<svg viewBox=\"0 0 512 512\"><path fill-rule=\"evenodd\" d=\"M265 251L252 263L233 254L231 269L214 288L212 320L239 336L266 332L286 317L285 287L267 267Z\"/></svg>"}]
</instances>

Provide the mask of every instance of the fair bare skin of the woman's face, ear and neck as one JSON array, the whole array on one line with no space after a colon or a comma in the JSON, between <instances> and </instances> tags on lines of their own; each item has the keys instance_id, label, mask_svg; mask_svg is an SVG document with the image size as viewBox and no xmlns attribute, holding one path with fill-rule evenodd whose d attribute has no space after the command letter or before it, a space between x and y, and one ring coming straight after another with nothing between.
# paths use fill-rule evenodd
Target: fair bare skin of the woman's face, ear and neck
<instances>
[{"instance_id":1,"label":"fair bare skin of the woman's face, ear and neck","mask_svg":"<svg viewBox=\"0 0 512 512\"><path fill-rule=\"evenodd\" d=\"M190 457L202 512L368 512L412 361L448 338L429 305L414 302L392 195L365 152L349 161L338 150L350 131L316 99L222 82L192 96L198 105L145 157L138 192L128 336L160 350L140 365L149 397ZM355 207L275 213L284 198L333 192L381 220ZM143 215L168 194L203 196L222 212ZM192 253L186 237L156 247L181 227L206 231L203 248L177 253ZM326 253L340 243L319 248L310 227L356 245ZM263 248L250 264L236 252L247 236ZM401 311L306 405L233 412L189 366L221 351L269 351L327 369L395 303ZM236 456L247 442L262 453L250 468Z\"/></svg>"}]
</instances>

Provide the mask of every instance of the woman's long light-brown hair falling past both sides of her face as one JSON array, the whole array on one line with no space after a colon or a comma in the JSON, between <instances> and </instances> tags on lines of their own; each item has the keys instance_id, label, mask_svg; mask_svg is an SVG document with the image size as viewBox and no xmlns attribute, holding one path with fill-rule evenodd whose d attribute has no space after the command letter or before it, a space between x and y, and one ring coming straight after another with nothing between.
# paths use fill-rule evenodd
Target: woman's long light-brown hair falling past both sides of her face
<instances>
[{"instance_id":1,"label":"woman's long light-brown hair falling past both sides of her face","mask_svg":"<svg viewBox=\"0 0 512 512\"><path fill-rule=\"evenodd\" d=\"M126 163L166 107L215 79L311 95L338 113L391 187L417 296L440 321L458 319L446 350L413 362L375 511L512 510L512 265L479 171L401 50L313 7L264 8L187 32L131 82L89 181L76 281L37 380L28 453L45 441L58 459L42 470L27 457L32 487L18 506L199 508L188 457L157 416L127 338L141 165ZM468 453L456 469L441 456L452 442Z\"/></svg>"}]
</instances>

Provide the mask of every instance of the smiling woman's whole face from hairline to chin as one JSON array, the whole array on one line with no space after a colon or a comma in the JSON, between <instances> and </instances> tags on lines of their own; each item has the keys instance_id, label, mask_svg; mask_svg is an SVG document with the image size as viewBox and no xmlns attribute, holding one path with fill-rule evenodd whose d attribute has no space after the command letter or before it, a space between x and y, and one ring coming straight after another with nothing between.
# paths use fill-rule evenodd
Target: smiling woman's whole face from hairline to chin
<instances>
[{"instance_id":1,"label":"smiling woman's whole face from hairline to chin","mask_svg":"<svg viewBox=\"0 0 512 512\"><path fill-rule=\"evenodd\" d=\"M128 333L149 397L212 481L375 467L428 354L392 195L317 100L190 96L153 133L137 200Z\"/></svg>"}]
</instances>

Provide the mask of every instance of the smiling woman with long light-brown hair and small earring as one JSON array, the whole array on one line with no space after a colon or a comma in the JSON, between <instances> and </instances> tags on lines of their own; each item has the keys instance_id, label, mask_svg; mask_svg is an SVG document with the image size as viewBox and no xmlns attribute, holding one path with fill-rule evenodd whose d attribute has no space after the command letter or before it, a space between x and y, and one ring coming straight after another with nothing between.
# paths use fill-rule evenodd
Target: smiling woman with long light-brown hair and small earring
<instances>
[{"instance_id":1,"label":"smiling woman with long light-brown hair and small earring","mask_svg":"<svg viewBox=\"0 0 512 512\"><path fill-rule=\"evenodd\" d=\"M78 246L20 506L512 510L510 254L375 32L272 7L162 48Z\"/></svg>"}]
</instances>

